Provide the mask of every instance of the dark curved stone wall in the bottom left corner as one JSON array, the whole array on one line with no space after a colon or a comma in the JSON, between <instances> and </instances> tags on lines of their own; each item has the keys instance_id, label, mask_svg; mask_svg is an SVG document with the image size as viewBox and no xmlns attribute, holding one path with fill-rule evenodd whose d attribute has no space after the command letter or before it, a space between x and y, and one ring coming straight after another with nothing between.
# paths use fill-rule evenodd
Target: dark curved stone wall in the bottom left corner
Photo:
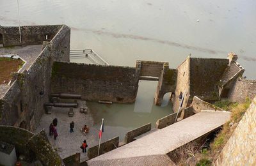
<instances>
[{"instance_id":1,"label":"dark curved stone wall in the bottom left corner","mask_svg":"<svg viewBox=\"0 0 256 166\"><path fill-rule=\"evenodd\" d=\"M17 154L24 155L28 162L37 159L43 165L63 165L44 130L35 134L23 128L0 125L0 141L14 145Z\"/></svg>"}]
</instances>

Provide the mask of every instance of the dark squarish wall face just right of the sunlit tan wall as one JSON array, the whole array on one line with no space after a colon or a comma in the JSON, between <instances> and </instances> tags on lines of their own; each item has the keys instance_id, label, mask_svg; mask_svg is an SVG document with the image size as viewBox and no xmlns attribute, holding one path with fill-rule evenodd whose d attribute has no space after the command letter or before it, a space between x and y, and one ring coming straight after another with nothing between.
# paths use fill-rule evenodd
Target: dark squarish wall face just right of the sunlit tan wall
<instances>
[{"instance_id":1,"label":"dark squarish wall face just right of the sunlit tan wall","mask_svg":"<svg viewBox=\"0 0 256 166\"><path fill-rule=\"evenodd\" d=\"M190 95L198 96L205 101L218 100L218 84L225 69L228 59L190 59Z\"/></svg>"}]
</instances>

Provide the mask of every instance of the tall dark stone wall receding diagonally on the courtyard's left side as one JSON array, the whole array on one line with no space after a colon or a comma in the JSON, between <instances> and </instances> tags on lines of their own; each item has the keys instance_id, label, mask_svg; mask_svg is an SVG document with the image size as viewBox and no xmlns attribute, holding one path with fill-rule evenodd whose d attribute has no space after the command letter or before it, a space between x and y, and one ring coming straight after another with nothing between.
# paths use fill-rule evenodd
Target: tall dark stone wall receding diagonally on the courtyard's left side
<instances>
[{"instance_id":1,"label":"tall dark stone wall receding diagonally on the courtyard's left side","mask_svg":"<svg viewBox=\"0 0 256 166\"><path fill-rule=\"evenodd\" d=\"M0 99L0 124L36 128L51 94L52 62L69 61L69 43L70 28L62 26L28 71L13 75L17 80Z\"/></svg>"}]
</instances>

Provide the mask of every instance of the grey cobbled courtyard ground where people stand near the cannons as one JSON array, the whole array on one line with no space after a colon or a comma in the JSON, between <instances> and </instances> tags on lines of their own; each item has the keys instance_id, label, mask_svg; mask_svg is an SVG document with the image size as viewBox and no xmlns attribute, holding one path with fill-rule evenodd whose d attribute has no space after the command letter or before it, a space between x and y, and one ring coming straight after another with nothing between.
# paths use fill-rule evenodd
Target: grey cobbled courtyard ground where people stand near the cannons
<instances>
[{"instance_id":1,"label":"grey cobbled courtyard ground where people stand near the cannons","mask_svg":"<svg viewBox=\"0 0 256 166\"><path fill-rule=\"evenodd\" d=\"M79 107L84 107L85 102L78 101ZM58 153L61 158L66 158L70 155L74 155L75 153L81 153L81 161L86 160L87 153L83 153L80 146L84 139L88 143L88 147L86 150L92 146L96 146L99 144L99 128L92 127L93 126L93 118L91 116L90 110L87 114L79 112L79 107L74 109L74 116L68 116L68 108L52 108L52 114L44 114L40 121L38 128L36 128L36 133L40 132L43 128L45 128L47 132L47 136L52 146L58 149ZM58 125L57 132L58 137L54 140L53 136L49 136L49 125L52 123L52 119L57 117ZM74 133L70 133L69 124L71 121L74 121ZM81 132L81 128L83 128L84 124L89 126L90 132L84 135Z\"/></svg>"}]
</instances>

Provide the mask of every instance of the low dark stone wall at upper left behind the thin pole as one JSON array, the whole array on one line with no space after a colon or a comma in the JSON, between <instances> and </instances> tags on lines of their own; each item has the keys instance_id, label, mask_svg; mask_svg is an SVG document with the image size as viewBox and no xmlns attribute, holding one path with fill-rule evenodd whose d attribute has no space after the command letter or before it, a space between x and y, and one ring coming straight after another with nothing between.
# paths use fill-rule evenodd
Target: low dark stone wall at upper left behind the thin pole
<instances>
[{"instance_id":1,"label":"low dark stone wall at upper left behind the thin pole","mask_svg":"<svg viewBox=\"0 0 256 166\"><path fill-rule=\"evenodd\" d=\"M55 34L61 29L61 25L56 26L21 26L21 44L19 27L1 27L0 34L3 34L3 45L36 45L43 41L51 41ZM46 38L47 36L47 38Z\"/></svg>"}]
</instances>

